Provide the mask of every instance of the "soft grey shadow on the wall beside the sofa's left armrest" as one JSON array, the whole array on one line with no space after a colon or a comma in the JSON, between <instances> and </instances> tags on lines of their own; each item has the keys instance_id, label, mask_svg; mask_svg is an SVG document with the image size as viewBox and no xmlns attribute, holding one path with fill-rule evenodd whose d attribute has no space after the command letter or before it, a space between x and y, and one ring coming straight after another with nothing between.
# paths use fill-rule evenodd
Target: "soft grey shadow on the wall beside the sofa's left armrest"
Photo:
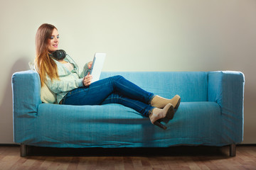
<instances>
[{"instance_id":1,"label":"soft grey shadow on the wall beside the sofa's left armrest","mask_svg":"<svg viewBox=\"0 0 256 170\"><path fill-rule=\"evenodd\" d=\"M0 103L0 143L11 143L14 141L13 137L13 105L12 105L12 87L11 77L15 72L28 70L28 59L20 57L11 67L11 72L8 73L9 79L5 82L6 88L3 94L3 101Z\"/></svg>"}]
</instances>

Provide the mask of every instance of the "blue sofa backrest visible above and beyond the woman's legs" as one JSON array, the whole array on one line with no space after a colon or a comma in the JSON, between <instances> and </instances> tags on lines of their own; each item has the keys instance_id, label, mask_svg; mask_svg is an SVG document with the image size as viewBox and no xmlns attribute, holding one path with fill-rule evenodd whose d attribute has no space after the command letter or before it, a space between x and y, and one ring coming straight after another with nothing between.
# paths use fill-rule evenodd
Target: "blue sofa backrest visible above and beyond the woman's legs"
<instances>
[{"instance_id":1,"label":"blue sofa backrest visible above and beyond the woman's legs","mask_svg":"<svg viewBox=\"0 0 256 170\"><path fill-rule=\"evenodd\" d=\"M208 101L208 72L102 72L100 79L121 75L142 89L183 102Z\"/></svg>"}]
</instances>

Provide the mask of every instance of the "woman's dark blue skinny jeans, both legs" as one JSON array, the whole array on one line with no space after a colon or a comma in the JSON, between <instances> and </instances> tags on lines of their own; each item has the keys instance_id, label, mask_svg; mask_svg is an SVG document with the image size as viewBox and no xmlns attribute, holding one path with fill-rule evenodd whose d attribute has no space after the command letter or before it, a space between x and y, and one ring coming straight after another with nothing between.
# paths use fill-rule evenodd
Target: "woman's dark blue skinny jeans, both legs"
<instances>
[{"instance_id":1,"label":"woman's dark blue skinny jeans, both legs","mask_svg":"<svg viewBox=\"0 0 256 170\"><path fill-rule=\"evenodd\" d=\"M144 91L124 77L114 76L68 92L62 104L81 106L119 103L149 116L154 108L150 106L153 97L154 94Z\"/></svg>"}]
</instances>

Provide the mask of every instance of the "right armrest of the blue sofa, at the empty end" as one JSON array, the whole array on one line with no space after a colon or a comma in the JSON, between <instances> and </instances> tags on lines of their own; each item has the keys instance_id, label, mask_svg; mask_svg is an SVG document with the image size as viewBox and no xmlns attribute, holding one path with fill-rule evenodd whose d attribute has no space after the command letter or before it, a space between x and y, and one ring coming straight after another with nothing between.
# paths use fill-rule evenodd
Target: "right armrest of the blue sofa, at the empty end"
<instances>
[{"instance_id":1,"label":"right armrest of the blue sofa, at the empty end","mask_svg":"<svg viewBox=\"0 0 256 170\"><path fill-rule=\"evenodd\" d=\"M223 136L224 142L239 143L243 139L244 86L242 72L209 72L208 101L219 104L223 131L232 136Z\"/></svg>"}]
</instances>

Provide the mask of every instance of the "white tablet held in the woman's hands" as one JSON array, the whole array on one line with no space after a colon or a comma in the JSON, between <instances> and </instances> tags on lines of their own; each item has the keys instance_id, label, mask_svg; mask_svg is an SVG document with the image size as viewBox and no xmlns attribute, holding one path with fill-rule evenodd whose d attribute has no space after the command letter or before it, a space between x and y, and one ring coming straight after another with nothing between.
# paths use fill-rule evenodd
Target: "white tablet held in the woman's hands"
<instances>
[{"instance_id":1,"label":"white tablet held in the woman's hands","mask_svg":"<svg viewBox=\"0 0 256 170\"><path fill-rule=\"evenodd\" d=\"M92 83L100 79L100 74L102 72L102 67L105 62L105 53L96 53L93 57L92 68L90 74L92 74Z\"/></svg>"}]
</instances>

